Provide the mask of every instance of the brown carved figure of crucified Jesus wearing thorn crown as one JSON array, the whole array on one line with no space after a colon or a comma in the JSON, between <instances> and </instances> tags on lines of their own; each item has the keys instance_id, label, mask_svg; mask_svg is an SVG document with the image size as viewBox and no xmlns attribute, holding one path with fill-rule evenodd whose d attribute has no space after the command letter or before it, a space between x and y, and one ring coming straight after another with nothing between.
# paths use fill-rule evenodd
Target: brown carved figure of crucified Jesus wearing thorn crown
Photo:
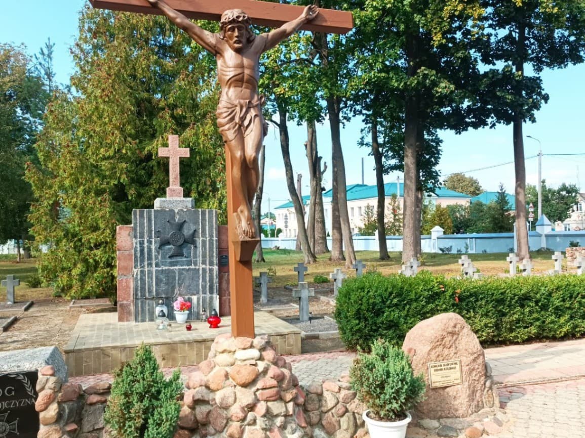
<instances>
[{"instance_id":1,"label":"brown carved figure of crucified Jesus wearing thorn crown","mask_svg":"<svg viewBox=\"0 0 585 438\"><path fill-rule=\"evenodd\" d=\"M236 211L240 240L257 237L252 220L252 201L259 182L258 154L268 125L262 116L264 96L258 94L260 55L287 39L319 13L307 6L297 18L269 33L255 35L252 20L240 9L223 12L219 33L211 33L192 23L164 0L148 0L201 47L215 55L221 97L216 110L219 133L232 158L233 190L241 200Z\"/></svg>"}]
</instances>

